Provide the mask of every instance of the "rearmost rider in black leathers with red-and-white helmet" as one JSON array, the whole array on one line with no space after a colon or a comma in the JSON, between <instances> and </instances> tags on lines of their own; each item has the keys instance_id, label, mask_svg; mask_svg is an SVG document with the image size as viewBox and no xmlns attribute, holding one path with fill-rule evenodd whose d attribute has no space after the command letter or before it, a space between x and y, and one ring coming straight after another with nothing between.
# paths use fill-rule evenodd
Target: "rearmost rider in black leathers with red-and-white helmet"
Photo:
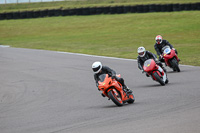
<instances>
[{"instance_id":1,"label":"rearmost rider in black leathers with red-and-white helmet","mask_svg":"<svg viewBox=\"0 0 200 133\"><path fill-rule=\"evenodd\" d=\"M154 44L154 48L157 52L157 55L159 56L159 61L164 62L164 59L162 56L162 48L165 46L169 46L171 49L175 50L176 54L178 54L177 50L167 40L163 40L161 35L157 35L155 40L156 40L156 43Z\"/></svg>"}]
</instances>

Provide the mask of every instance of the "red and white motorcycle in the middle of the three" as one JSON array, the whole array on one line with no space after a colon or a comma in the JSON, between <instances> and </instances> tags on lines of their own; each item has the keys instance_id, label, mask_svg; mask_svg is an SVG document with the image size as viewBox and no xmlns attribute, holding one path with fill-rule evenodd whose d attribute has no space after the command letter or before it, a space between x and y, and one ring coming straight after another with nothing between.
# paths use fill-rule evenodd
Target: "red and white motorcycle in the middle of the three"
<instances>
[{"instance_id":1,"label":"red and white motorcycle in the middle of the three","mask_svg":"<svg viewBox=\"0 0 200 133\"><path fill-rule=\"evenodd\" d=\"M143 69L147 75L150 75L154 81L159 82L161 85L168 83L167 74L153 59L146 60Z\"/></svg>"}]
</instances>

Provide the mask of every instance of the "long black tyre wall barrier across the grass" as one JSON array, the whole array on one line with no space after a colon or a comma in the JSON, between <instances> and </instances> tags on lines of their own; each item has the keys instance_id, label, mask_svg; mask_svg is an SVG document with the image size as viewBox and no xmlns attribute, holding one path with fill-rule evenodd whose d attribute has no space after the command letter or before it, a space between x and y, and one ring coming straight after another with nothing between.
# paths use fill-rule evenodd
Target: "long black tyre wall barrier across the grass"
<instances>
[{"instance_id":1,"label":"long black tyre wall barrier across the grass","mask_svg":"<svg viewBox=\"0 0 200 133\"><path fill-rule=\"evenodd\" d=\"M38 11L21 11L0 13L0 20L4 19L25 19L52 16L72 16L72 15L98 15L98 14L122 14L122 13L147 13L147 12L173 12L200 10L200 3L187 4L150 4L135 6L107 6L88 7L74 9L50 9Z\"/></svg>"}]
</instances>

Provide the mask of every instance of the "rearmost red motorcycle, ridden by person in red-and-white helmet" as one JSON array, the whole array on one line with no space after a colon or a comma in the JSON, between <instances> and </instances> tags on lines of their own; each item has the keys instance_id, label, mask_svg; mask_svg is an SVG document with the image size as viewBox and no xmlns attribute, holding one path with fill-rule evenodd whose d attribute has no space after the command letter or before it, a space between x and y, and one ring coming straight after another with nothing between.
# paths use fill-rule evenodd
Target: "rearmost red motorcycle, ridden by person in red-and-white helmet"
<instances>
[{"instance_id":1,"label":"rearmost red motorcycle, ridden by person in red-and-white helmet","mask_svg":"<svg viewBox=\"0 0 200 133\"><path fill-rule=\"evenodd\" d=\"M171 49L169 46L162 48L163 58L165 60L166 66L169 66L173 71L180 72L179 68L179 59L174 49Z\"/></svg>"}]
</instances>

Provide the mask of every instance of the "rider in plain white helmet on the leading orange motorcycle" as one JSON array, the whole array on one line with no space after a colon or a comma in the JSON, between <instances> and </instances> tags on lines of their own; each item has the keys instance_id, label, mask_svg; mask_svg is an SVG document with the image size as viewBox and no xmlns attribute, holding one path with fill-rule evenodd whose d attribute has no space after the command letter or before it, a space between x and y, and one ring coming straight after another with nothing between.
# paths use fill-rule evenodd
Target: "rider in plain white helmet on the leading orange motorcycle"
<instances>
[{"instance_id":1,"label":"rider in plain white helmet on the leading orange motorcycle","mask_svg":"<svg viewBox=\"0 0 200 133\"><path fill-rule=\"evenodd\" d=\"M124 83L123 78L119 78L116 76L116 72L109 68L108 66L103 66L101 62L96 61L92 64L92 70L94 72L94 79L96 82L96 86L98 87L98 81L99 81L99 76L101 74L108 74L111 76L113 79L117 80L119 83L122 84L123 90L127 93L132 93L132 90L130 90Z\"/></svg>"}]
</instances>

